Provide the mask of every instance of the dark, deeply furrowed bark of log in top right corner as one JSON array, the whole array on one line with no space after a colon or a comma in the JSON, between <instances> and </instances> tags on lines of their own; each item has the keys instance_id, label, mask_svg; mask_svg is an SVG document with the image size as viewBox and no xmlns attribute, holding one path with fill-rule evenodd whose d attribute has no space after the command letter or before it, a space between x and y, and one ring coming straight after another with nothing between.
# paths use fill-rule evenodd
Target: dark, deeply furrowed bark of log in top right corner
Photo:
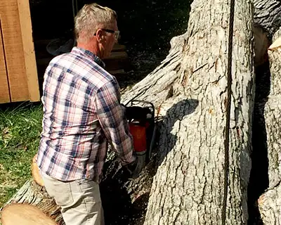
<instances>
[{"instance_id":1,"label":"dark, deeply furrowed bark of log in top right corner","mask_svg":"<svg viewBox=\"0 0 281 225\"><path fill-rule=\"evenodd\" d=\"M263 27L271 39L281 26L281 2L279 0L254 0L254 23Z\"/></svg>"}]
</instances>

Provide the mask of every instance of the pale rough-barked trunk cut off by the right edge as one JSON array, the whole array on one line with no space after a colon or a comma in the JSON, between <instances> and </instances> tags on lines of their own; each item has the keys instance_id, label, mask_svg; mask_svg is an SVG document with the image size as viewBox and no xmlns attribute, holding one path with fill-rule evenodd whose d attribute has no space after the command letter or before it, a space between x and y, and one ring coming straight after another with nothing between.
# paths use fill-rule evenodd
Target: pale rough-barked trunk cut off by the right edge
<instances>
[{"instance_id":1,"label":"pale rough-barked trunk cut off by the right edge","mask_svg":"<svg viewBox=\"0 0 281 225\"><path fill-rule=\"evenodd\" d=\"M281 37L281 29L273 36L273 41ZM273 42L274 44L274 42ZM265 108L266 133L268 143L268 178L266 193L259 198L259 211L264 224L281 224L281 46L276 50L268 50L270 60L270 94Z\"/></svg>"}]
</instances>

